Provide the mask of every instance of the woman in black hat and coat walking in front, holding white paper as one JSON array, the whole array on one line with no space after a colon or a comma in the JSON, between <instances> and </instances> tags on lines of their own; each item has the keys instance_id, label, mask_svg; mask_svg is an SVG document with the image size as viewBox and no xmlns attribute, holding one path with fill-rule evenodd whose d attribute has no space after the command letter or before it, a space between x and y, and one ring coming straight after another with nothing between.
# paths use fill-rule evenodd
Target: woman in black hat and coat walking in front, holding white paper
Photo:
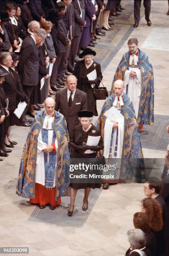
<instances>
[{"instance_id":1,"label":"woman in black hat and coat walking in front, holding white paper","mask_svg":"<svg viewBox=\"0 0 169 256\"><path fill-rule=\"evenodd\" d=\"M93 113L87 110L82 110L78 113L80 124L75 126L74 133L72 137L70 137L70 147L72 150L72 158L86 158L91 159L97 156L97 152L104 148L103 140L101 133L98 128L92 125L90 122L92 121ZM97 146L88 146L87 139L88 136L97 137L100 136L99 143ZM91 154L86 154L86 150L91 150ZM85 171L84 171L85 173ZM88 208L88 196L91 188L100 188L101 184L99 183L71 183L71 194L70 194L70 208L68 210L68 215L72 216L75 198L77 194L77 189L85 189L85 195L83 199L82 210L86 211Z\"/></svg>"}]
</instances>

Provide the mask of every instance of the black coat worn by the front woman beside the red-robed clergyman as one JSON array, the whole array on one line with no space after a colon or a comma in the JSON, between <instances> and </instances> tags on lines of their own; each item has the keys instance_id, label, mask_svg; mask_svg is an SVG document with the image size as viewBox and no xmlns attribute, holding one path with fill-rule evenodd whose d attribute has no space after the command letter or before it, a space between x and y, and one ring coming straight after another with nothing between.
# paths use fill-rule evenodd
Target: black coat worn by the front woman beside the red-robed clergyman
<instances>
[{"instance_id":1,"label":"black coat worn by the front woman beside the red-robed clergyman","mask_svg":"<svg viewBox=\"0 0 169 256\"><path fill-rule=\"evenodd\" d=\"M95 151L92 154L85 154L83 150L81 150L83 142L87 142L88 136L101 136L101 133L97 127L92 125L87 132L83 131L82 125L75 126L75 130L73 136L70 138L70 147L72 149L72 158L95 158L97 155L97 151L104 148L102 137L100 137L98 146L93 146L91 150ZM71 183L70 187L73 189L85 189L90 187L92 189L100 188L101 184L98 183Z\"/></svg>"}]
</instances>

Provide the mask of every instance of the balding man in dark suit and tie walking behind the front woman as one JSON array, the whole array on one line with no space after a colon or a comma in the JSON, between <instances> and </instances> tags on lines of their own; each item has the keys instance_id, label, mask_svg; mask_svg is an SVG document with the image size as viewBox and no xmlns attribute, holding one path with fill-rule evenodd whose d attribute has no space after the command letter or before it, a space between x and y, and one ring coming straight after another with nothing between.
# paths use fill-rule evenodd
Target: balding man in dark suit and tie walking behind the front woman
<instances>
[{"instance_id":1,"label":"balding man in dark suit and tie walking behind the front woman","mask_svg":"<svg viewBox=\"0 0 169 256\"><path fill-rule=\"evenodd\" d=\"M79 124L77 113L87 110L87 94L76 88L77 78L74 75L67 77L66 85L66 89L55 95L55 110L64 115L69 134L72 134L74 127Z\"/></svg>"}]
</instances>

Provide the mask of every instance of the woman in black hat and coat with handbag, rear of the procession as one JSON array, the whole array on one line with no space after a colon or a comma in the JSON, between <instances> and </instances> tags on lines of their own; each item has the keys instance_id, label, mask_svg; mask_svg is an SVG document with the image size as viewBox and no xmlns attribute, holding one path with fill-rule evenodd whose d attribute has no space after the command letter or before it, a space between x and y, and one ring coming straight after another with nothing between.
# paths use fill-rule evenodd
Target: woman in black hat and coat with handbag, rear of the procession
<instances>
[{"instance_id":1,"label":"woman in black hat and coat with handbag, rear of the procession","mask_svg":"<svg viewBox=\"0 0 169 256\"><path fill-rule=\"evenodd\" d=\"M97 116L96 100L93 95L93 87L97 88L103 78L100 64L92 58L96 55L95 51L86 48L81 54L80 58L83 60L78 61L75 65L73 74L77 77L77 88L87 94L87 110L92 111L93 115ZM93 79L88 77L91 72L95 72Z\"/></svg>"}]
</instances>

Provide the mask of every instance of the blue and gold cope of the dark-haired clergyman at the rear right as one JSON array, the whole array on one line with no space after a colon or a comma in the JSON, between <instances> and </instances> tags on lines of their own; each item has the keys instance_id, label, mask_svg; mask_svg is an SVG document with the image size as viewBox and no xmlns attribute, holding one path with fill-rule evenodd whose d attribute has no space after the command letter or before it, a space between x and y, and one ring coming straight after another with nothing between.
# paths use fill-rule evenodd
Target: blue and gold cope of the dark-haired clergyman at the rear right
<instances>
[{"instance_id":1,"label":"blue and gold cope of the dark-haired clergyman at the rear right","mask_svg":"<svg viewBox=\"0 0 169 256\"><path fill-rule=\"evenodd\" d=\"M132 39L137 40L137 38L131 38L130 40ZM116 73L114 75L111 93L113 93L113 84L116 80L121 79L122 81L124 81L125 72L129 70L129 67L138 67L141 72L141 95L140 95L139 106L138 106L137 121L138 121L139 127L141 125L153 125L154 123L154 75L153 75L152 64L149 63L147 54L145 54L139 48L137 48L137 55L138 55L137 66L130 65L131 64L129 63L130 55L132 55L131 49L123 55L117 67ZM127 94L127 91L126 91L126 94ZM136 116L137 116L137 113L136 113Z\"/></svg>"}]
</instances>

